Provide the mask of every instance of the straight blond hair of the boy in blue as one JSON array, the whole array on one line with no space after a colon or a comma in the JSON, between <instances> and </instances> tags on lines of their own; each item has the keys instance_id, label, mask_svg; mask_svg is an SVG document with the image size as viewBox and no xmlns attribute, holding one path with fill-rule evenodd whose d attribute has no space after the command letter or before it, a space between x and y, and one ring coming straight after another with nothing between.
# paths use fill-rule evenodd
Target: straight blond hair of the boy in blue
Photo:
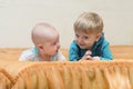
<instances>
[{"instance_id":1,"label":"straight blond hair of the boy in blue","mask_svg":"<svg viewBox=\"0 0 133 89\"><path fill-rule=\"evenodd\" d=\"M83 12L78 20L74 22L74 31L82 32L102 32L103 30L103 20L102 18L94 12Z\"/></svg>"}]
</instances>

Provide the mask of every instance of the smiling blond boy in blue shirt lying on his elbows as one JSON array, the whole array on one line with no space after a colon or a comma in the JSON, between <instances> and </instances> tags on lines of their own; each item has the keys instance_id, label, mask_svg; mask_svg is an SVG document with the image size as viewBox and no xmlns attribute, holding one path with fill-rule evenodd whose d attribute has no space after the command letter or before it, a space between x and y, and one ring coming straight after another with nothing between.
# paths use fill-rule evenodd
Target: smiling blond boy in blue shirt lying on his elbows
<instances>
[{"instance_id":1,"label":"smiling blond boy in blue shirt lying on his elbows","mask_svg":"<svg viewBox=\"0 0 133 89\"><path fill-rule=\"evenodd\" d=\"M69 60L112 60L109 42L104 39L102 18L83 12L74 23L75 39L69 50Z\"/></svg>"}]
</instances>

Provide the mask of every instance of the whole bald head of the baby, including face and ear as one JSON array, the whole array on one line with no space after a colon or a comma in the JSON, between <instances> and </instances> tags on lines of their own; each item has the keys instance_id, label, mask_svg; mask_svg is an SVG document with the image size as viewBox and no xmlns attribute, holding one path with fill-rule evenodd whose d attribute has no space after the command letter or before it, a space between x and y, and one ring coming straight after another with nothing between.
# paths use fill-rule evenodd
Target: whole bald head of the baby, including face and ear
<instances>
[{"instance_id":1,"label":"whole bald head of the baby, including face and ear","mask_svg":"<svg viewBox=\"0 0 133 89\"><path fill-rule=\"evenodd\" d=\"M49 23L38 23L32 29L31 36L34 46L41 55L54 56L60 49L59 32Z\"/></svg>"}]
</instances>

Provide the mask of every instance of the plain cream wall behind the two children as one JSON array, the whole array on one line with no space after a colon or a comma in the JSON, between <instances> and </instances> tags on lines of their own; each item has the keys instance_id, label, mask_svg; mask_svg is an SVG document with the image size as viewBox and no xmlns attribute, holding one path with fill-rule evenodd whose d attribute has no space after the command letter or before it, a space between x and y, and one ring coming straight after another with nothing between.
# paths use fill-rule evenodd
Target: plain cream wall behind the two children
<instances>
[{"instance_id":1,"label":"plain cream wall behind the two children","mask_svg":"<svg viewBox=\"0 0 133 89\"><path fill-rule=\"evenodd\" d=\"M102 17L110 44L133 44L133 0L0 0L0 48L32 47L38 22L54 26L62 48L69 48L73 23L84 11Z\"/></svg>"}]
</instances>

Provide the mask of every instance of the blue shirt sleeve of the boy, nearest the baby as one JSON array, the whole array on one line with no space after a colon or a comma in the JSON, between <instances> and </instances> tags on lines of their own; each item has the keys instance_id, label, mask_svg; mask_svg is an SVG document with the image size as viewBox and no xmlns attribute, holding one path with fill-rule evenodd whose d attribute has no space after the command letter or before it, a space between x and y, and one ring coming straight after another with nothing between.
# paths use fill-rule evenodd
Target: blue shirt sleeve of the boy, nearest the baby
<instances>
[{"instance_id":1,"label":"blue shirt sleeve of the boy, nearest the baby","mask_svg":"<svg viewBox=\"0 0 133 89\"><path fill-rule=\"evenodd\" d=\"M70 46L70 49L69 49L69 60L70 61L78 61L79 59L80 59L79 49L78 49L78 46L75 44L75 42L73 41Z\"/></svg>"}]
</instances>

